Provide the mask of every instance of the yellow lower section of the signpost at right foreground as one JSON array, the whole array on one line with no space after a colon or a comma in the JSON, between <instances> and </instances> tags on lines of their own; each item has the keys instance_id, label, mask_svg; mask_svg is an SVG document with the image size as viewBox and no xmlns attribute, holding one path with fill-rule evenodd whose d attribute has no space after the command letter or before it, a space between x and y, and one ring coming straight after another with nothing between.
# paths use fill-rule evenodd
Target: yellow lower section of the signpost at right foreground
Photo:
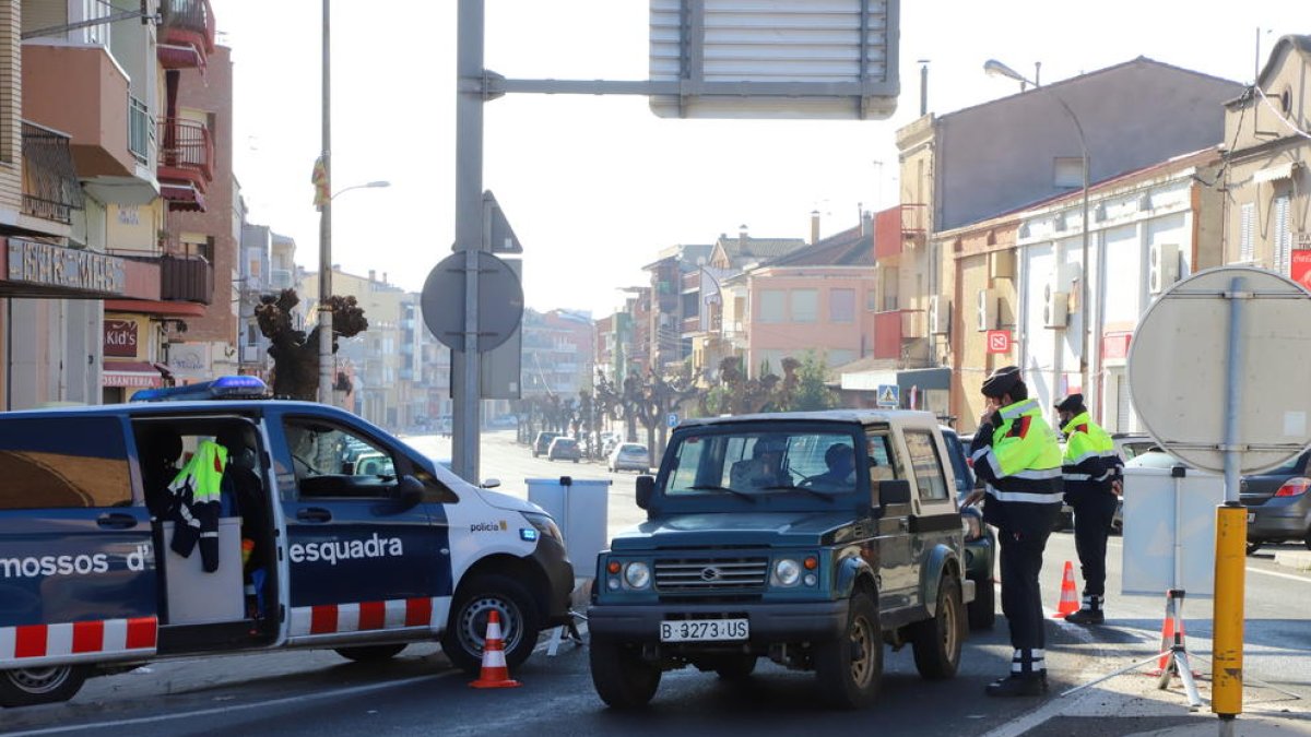
<instances>
[{"instance_id":1,"label":"yellow lower section of the signpost at right foreground","mask_svg":"<svg viewBox=\"0 0 1311 737\"><path fill-rule=\"evenodd\" d=\"M1243 713L1243 576L1247 567L1247 508L1215 510L1215 639L1211 711Z\"/></svg>"}]
</instances>

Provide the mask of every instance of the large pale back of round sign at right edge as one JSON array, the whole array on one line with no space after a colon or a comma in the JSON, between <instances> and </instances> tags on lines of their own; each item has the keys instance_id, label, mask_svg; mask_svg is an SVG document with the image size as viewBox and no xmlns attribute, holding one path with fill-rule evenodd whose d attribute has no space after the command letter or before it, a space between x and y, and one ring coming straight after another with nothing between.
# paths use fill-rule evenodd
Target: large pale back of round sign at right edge
<instances>
[{"instance_id":1,"label":"large pale back of round sign at right edge","mask_svg":"<svg viewBox=\"0 0 1311 737\"><path fill-rule=\"evenodd\" d=\"M1274 468L1311 445L1311 294L1248 266L1200 271L1158 298L1129 351L1129 392L1152 438L1222 473L1228 420L1230 308L1240 299L1240 473Z\"/></svg>"}]
</instances>

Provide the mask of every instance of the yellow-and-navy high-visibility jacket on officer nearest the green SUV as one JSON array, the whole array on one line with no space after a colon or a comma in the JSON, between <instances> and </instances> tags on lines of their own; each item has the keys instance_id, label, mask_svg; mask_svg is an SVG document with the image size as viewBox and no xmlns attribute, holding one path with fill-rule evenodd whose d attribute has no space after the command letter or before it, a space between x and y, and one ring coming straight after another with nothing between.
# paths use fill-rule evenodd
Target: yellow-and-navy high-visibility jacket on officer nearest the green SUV
<instances>
[{"instance_id":1,"label":"yellow-and-navy high-visibility jacket on officer nearest the green SUV","mask_svg":"<svg viewBox=\"0 0 1311 737\"><path fill-rule=\"evenodd\" d=\"M1061 446L1037 401L994 412L974 434L970 459L987 483L983 519L1008 534L1051 531L1065 494Z\"/></svg>"}]
</instances>

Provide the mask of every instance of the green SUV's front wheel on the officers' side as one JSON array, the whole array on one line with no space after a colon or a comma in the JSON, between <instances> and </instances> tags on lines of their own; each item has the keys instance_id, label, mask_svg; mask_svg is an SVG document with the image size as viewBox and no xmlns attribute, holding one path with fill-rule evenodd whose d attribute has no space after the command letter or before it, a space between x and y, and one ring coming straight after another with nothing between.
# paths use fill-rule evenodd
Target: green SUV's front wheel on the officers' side
<instances>
[{"instance_id":1,"label":"green SUV's front wheel on the officers' side","mask_svg":"<svg viewBox=\"0 0 1311 737\"><path fill-rule=\"evenodd\" d=\"M884 631L872 594L851 597L842 636L814 649L815 677L823 698L838 708L863 708L878 698L884 674Z\"/></svg>"}]
</instances>

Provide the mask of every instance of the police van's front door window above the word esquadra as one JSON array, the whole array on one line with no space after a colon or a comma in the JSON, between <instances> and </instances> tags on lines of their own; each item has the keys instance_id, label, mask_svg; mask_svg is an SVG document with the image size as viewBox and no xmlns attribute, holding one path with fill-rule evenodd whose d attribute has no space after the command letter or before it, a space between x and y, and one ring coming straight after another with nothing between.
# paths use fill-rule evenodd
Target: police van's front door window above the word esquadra
<instances>
[{"instance_id":1,"label":"police van's front door window above the word esquadra","mask_svg":"<svg viewBox=\"0 0 1311 737\"><path fill-rule=\"evenodd\" d=\"M379 497L395 487L391 452L368 439L299 418L287 418L283 433L302 498Z\"/></svg>"}]
</instances>

